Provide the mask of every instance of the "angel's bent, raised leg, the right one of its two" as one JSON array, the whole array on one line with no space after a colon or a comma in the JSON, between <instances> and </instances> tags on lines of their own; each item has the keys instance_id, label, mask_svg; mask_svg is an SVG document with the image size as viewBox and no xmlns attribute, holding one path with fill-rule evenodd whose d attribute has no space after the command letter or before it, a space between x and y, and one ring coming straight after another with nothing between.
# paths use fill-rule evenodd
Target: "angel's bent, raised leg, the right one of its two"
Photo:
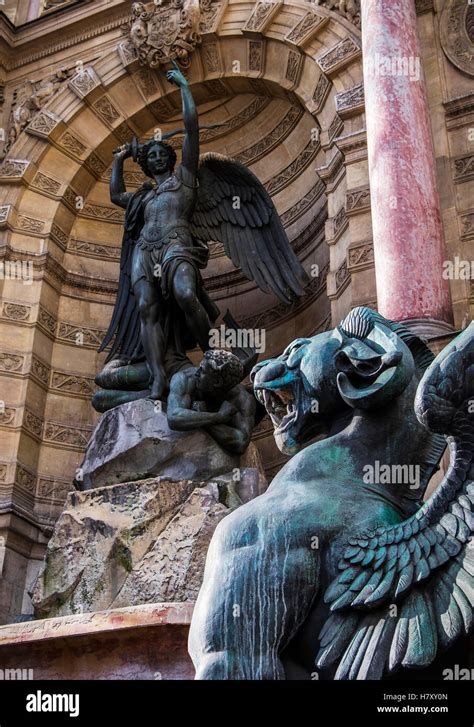
<instances>
[{"instance_id":1,"label":"angel's bent, raised leg, the right one of its two","mask_svg":"<svg viewBox=\"0 0 474 727\"><path fill-rule=\"evenodd\" d=\"M180 263L176 268L173 294L186 317L189 330L196 336L201 349L207 351L211 322L198 297L196 272L187 262Z\"/></svg>"}]
</instances>

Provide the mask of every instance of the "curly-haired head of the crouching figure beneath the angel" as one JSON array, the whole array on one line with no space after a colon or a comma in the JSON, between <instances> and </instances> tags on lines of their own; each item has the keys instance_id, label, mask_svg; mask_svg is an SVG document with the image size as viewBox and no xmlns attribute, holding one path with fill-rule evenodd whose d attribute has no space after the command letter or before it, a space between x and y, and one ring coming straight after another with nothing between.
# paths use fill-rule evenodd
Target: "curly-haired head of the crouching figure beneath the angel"
<instances>
[{"instance_id":1,"label":"curly-haired head of the crouching figure beneath the angel","mask_svg":"<svg viewBox=\"0 0 474 727\"><path fill-rule=\"evenodd\" d=\"M206 351L196 371L199 391L204 396L219 398L239 384L244 376L242 362L230 351Z\"/></svg>"}]
</instances>

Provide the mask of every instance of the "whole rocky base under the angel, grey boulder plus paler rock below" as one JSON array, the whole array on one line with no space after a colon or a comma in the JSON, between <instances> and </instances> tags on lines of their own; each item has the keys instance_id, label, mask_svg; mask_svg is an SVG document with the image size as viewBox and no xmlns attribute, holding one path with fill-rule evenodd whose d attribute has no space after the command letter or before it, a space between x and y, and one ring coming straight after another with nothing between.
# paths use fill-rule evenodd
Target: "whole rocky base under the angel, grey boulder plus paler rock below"
<instances>
[{"instance_id":1,"label":"whole rocky base under the angel, grey boulder plus paler rock below","mask_svg":"<svg viewBox=\"0 0 474 727\"><path fill-rule=\"evenodd\" d=\"M150 400L101 417L80 475L30 593L39 618L194 601L218 522L267 486L253 444L172 431Z\"/></svg>"}]
</instances>

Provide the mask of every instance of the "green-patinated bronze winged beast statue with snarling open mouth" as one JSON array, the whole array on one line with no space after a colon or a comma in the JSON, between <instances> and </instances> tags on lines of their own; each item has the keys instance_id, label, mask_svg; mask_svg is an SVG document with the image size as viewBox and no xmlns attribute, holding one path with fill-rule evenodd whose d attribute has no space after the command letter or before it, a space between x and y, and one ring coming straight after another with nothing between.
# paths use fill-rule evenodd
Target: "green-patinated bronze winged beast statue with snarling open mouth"
<instances>
[{"instance_id":1,"label":"green-patinated bronze winged beast statue with snarling open mouth","mask_svg":"<svg viewBox=\"0 0 474 727\"><path fill-rule=\"evenodd\" d=\"M253 383L293 456L214 533L189 638L196 678L431 665L442 679L438 658L473 620L474 323L434 359L356 308L258 364ZM449 469L424 501L446 441Z\"/></svg>"}]
</instances>

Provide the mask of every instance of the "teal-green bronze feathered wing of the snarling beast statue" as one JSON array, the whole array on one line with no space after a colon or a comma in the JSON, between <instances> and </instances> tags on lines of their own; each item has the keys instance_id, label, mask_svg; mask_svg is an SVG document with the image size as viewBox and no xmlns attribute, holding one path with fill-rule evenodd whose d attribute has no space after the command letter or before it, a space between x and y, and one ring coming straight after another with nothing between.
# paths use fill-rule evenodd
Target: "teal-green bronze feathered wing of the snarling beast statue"
<instances>
[{"instance_id":1,"label":"teal-green bronze feathered wing of the snarling beast statue","mask_svg":"<svg viewBox=\"0 0 474 727\"><path fill-rule=\"evenodd\" d=\"M316 660L338 664L336 679L427 666L472 627L474 323L425 372L415 410L448 435L450 468L412 517L349 541L325 594L333 613Z\"/></svg>"}]
</instances>

